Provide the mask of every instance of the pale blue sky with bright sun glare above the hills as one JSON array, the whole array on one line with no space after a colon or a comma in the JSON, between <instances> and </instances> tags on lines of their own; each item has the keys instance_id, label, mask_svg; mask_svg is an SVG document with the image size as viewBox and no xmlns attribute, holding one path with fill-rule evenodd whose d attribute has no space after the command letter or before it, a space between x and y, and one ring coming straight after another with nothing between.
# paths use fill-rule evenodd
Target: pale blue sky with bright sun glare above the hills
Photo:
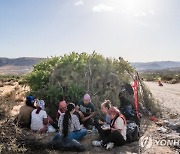
<instances>
[{"instance_id":1,"label":"pale blue sky with bright sun glare above the hills","mask_svg":"<svg viewBox=\"0 0 180 154\"><path fill-rule=\"evenodd\" d=\"M0 57L72 51L180 61L180 0L0 0Z\"/></svg>"}]
</instances>

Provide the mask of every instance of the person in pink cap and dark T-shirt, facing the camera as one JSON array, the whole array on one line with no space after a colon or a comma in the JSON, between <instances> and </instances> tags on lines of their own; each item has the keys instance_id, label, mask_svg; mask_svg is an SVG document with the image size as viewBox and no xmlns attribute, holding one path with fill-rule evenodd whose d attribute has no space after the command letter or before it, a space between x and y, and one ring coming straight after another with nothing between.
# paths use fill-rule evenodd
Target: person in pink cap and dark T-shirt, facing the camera
<instances>
[{"instance_id":1,"label":"person in pink cap and dark T-shirt, facing the camera","mask_svg":"<svg viewBox=\"0 0 180 154\"><path fill-rule=\"evenodd\" d=\"M80 119L80 122L87 129L91 129L93 125L93 116L94 116L94 105L91 102L91 97L89 94L85 94L83 101L80 101L76 106L76 113Z\"/></svg>"}]
</instances>

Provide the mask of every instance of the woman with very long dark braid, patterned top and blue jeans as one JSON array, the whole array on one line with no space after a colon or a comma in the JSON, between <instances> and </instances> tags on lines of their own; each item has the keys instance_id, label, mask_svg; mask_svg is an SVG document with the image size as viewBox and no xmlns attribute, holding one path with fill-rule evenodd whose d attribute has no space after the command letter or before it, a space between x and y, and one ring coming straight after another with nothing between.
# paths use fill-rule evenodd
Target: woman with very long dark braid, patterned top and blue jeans
<instances>
[{"instance_id":1,"label":"woman with very long dark braid, patterned top and blue jeans","mask_svg":"<svg viewBox=\"0 0 180 154\"><path fill-rule=\"evenodd\" d=\"M60 134L66 138L80 140L86 135L87 130L80 125L78 117L74 114L75 105L69 103L67 105L67 110L62 114L58 121L58 126L60 128Z\"/></svg>"}]
</instances>

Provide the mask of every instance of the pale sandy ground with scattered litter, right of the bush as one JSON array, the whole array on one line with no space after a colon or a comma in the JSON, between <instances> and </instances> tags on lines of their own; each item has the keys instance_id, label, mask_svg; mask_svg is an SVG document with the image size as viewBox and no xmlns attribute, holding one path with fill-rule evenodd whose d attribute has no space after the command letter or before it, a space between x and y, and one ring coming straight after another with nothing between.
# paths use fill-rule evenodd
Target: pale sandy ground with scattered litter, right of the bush
<instances>
[{"instance_id":1,"label":"pale sandy ground with scattered litter, right of the bush","mask_svg":"<svg viewBox=\"0 0 180 154\"><path fill-rule=\"evenodd\" d=\"M158 122L151 122L144 136L151 136L159 141L175 140L180 143L180 83L158 86L156 82L145 82L153 97L159 103L162 117ZM177 126L174 129L173 126ZM176 147L167 145L153 145L143 153L180 153L180 144Z\"/></svg>"}]
</instances>

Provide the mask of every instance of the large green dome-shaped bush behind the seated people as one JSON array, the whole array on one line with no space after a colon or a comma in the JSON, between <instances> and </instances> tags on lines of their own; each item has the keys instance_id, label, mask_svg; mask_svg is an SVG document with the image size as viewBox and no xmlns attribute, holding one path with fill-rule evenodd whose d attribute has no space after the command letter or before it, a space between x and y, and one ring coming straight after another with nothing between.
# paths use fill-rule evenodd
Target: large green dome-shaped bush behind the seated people
<instances>
[{"instance_id":1,"label":"large green dome-shaped bush behind the seated people","mask_svg":"<svg viewBox=\"0 0 180 154\"><path fill-rule=\"evenodd\" d=\"M35 65L25 82L31 94L45 100L48 113L54 117L60 100L77 104L85 93L91 95L96 109L105 99L119 107L122 85L132 82L133 73L123 58L72 52Z\"/></svg>"}]
</instances>

